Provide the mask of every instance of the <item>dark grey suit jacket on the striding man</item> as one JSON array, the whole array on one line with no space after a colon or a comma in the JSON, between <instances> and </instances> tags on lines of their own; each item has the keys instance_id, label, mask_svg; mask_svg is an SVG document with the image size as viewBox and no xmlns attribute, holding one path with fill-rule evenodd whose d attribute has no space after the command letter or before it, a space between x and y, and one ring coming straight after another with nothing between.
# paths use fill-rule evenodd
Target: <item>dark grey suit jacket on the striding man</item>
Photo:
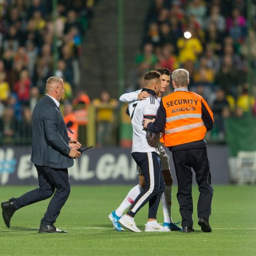
<instances>
[{"instance_id":1,"label":"dark grey suit jacket on the striding man","mask_svg":"<svg viewBox=\"0 0 256 256\"><path fill-rule=\"evenodd\" d=\"M68 168L74 164L69 152L66 124L55 102L45 95L32 115L31 161L40 166Z\"/></svg>"}]
</instances>

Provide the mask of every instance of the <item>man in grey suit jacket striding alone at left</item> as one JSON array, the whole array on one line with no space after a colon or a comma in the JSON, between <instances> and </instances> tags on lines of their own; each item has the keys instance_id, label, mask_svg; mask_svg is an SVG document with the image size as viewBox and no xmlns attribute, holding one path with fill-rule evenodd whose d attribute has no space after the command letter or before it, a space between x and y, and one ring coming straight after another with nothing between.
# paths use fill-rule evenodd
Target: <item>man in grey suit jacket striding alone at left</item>
<instances>
[{"instance_id":1,"label":"man in grey suit jacket striding alone at left","mask_svg":"<svg viewBox=\"0 0 256 256\"><path fill-rule=\"evenodd\" d=\"M70 194L68 167L80 156L81 144L68 137L67 127L59 110L59 102L65 93L63 80L50 77L46 82L47 94L40 99L32 115L32 155L39 187L19 198L3 202L2 213L6 226L19 208L50 198L39 233L63 233L53 224Z\"/></svg>"}]
</instances>

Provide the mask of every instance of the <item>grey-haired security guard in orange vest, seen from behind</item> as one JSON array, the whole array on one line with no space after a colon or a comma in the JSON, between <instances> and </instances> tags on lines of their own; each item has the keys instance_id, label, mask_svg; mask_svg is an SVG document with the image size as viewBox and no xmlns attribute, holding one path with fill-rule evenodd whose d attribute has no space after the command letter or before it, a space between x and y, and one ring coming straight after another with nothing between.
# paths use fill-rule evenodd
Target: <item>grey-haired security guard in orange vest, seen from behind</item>
<instances>
[{"instance_id":1,"label":"grey-haired security guard in orange vest, seen from behind","mask_svg":"<svg viewBox=\"0 0 256 256\"><path fill-rule=\"evenodd\" d=\"M214 118L203 97L187 90L188 76L185 69L177 69L172 73L174 93L162 98L155 122L143 119L143 128L153 133L163 132L160 142L173 153L183 232L195 231L191 167L195 170L200 192L198 224L202 231L211 232L209 216L214 190L204 137L206 131L212 129Z\"/></svg>"}]
</instances>

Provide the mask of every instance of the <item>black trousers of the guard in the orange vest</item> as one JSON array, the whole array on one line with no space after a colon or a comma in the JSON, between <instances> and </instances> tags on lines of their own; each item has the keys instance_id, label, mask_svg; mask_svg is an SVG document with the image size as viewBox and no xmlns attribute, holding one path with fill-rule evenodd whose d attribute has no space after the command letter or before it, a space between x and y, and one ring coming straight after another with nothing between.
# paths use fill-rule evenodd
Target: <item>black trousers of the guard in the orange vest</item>
<instances>
[{"instance_id":1,"label":"black trousers of the guard in the orange vest","mask_svg":"<svg viewBox=\"0 0 256 256\"><path fill-rule=\"evenodd\" d=\"M191 167L195 170L200 192L197 204L198 218L209 220L214 190L211 186L206 148L175 151L173 152L173 160L178 180L177 199L180 205L182 227L193 227L193 199L191 195L193 173Z\"/></svg>"}]
</instances>

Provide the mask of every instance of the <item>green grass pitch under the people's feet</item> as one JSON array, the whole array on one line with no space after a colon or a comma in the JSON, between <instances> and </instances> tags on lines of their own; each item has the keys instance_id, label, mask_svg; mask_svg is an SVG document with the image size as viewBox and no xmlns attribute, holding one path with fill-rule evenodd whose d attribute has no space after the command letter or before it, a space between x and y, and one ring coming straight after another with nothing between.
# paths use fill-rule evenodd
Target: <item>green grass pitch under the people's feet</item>
<instances>
[{"instance_id":1,"label":"green grass pitch under the people's feet","mask_svg":"<svg viewBox=\"0 0 256 256\"><path fill-rule=\"evenodd\" d=\"M68 233L38 233L49 200L15 212L8 229L0 220L0 255L256 255L256 187L214 186L211 233L197 224L197 187L193 187L194 233L117 232L107 220L132 186L73 186L56 227ZM0 187L1 202L18 197L32 186ZM180 221L173 188L173 221ZM144 229L147 205L135 217ZM158 222L163 222L162 206Z\"/></svg>"}]
</instances>

